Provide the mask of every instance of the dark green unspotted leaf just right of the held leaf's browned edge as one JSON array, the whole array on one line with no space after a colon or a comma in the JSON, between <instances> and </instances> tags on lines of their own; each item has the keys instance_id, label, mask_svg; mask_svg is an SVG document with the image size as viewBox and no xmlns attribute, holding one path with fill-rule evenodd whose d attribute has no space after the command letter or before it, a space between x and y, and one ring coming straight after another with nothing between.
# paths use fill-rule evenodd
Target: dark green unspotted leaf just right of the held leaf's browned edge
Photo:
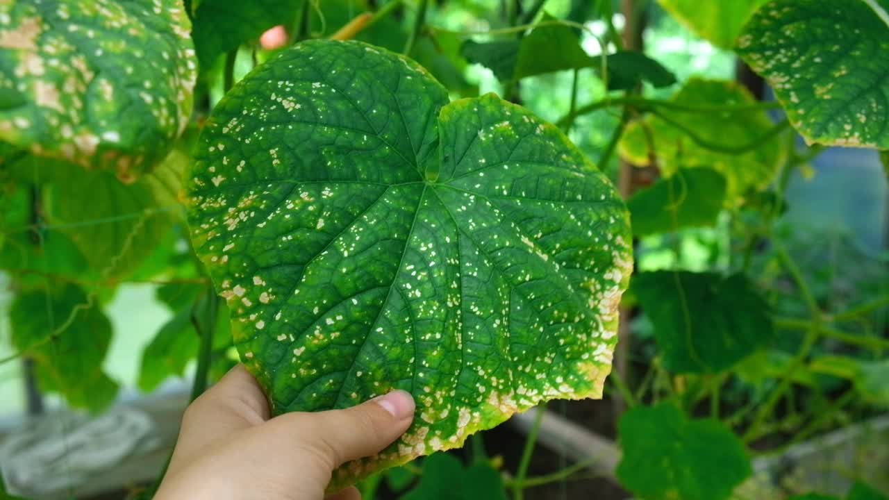
<instances>
[{"instance_id":1,"label":"dark green unspotted leaf just right of the held leaf's browned edge","mask_svg":"<svg viewBox=\"0 0 889 500\"><path fill-rule=\"evenodd\" d=\"M659 270L632 286L672 372L718 372L772 340L768 305L742 274Z\"/></svg>"}]
</instances>

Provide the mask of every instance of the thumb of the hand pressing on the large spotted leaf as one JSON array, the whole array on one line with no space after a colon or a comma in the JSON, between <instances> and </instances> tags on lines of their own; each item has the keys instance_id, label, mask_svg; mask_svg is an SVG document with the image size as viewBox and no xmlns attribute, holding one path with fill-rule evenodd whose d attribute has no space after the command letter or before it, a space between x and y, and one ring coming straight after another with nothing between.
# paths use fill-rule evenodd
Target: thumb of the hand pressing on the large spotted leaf
<instances>
[{"instance_id":1,"label":"thumb of the hand pressing on the large spotted leaf","mask_svg":"<svg viewBox=\"0 0 889 500\"><path fill-rule=\"evenodd\" d=\"M413 421L410 392L391 391L346 409L285 414L300 420L303 445L315 448L333 467L372 456L407 431Z\"/></svg>"}]
</instances>

